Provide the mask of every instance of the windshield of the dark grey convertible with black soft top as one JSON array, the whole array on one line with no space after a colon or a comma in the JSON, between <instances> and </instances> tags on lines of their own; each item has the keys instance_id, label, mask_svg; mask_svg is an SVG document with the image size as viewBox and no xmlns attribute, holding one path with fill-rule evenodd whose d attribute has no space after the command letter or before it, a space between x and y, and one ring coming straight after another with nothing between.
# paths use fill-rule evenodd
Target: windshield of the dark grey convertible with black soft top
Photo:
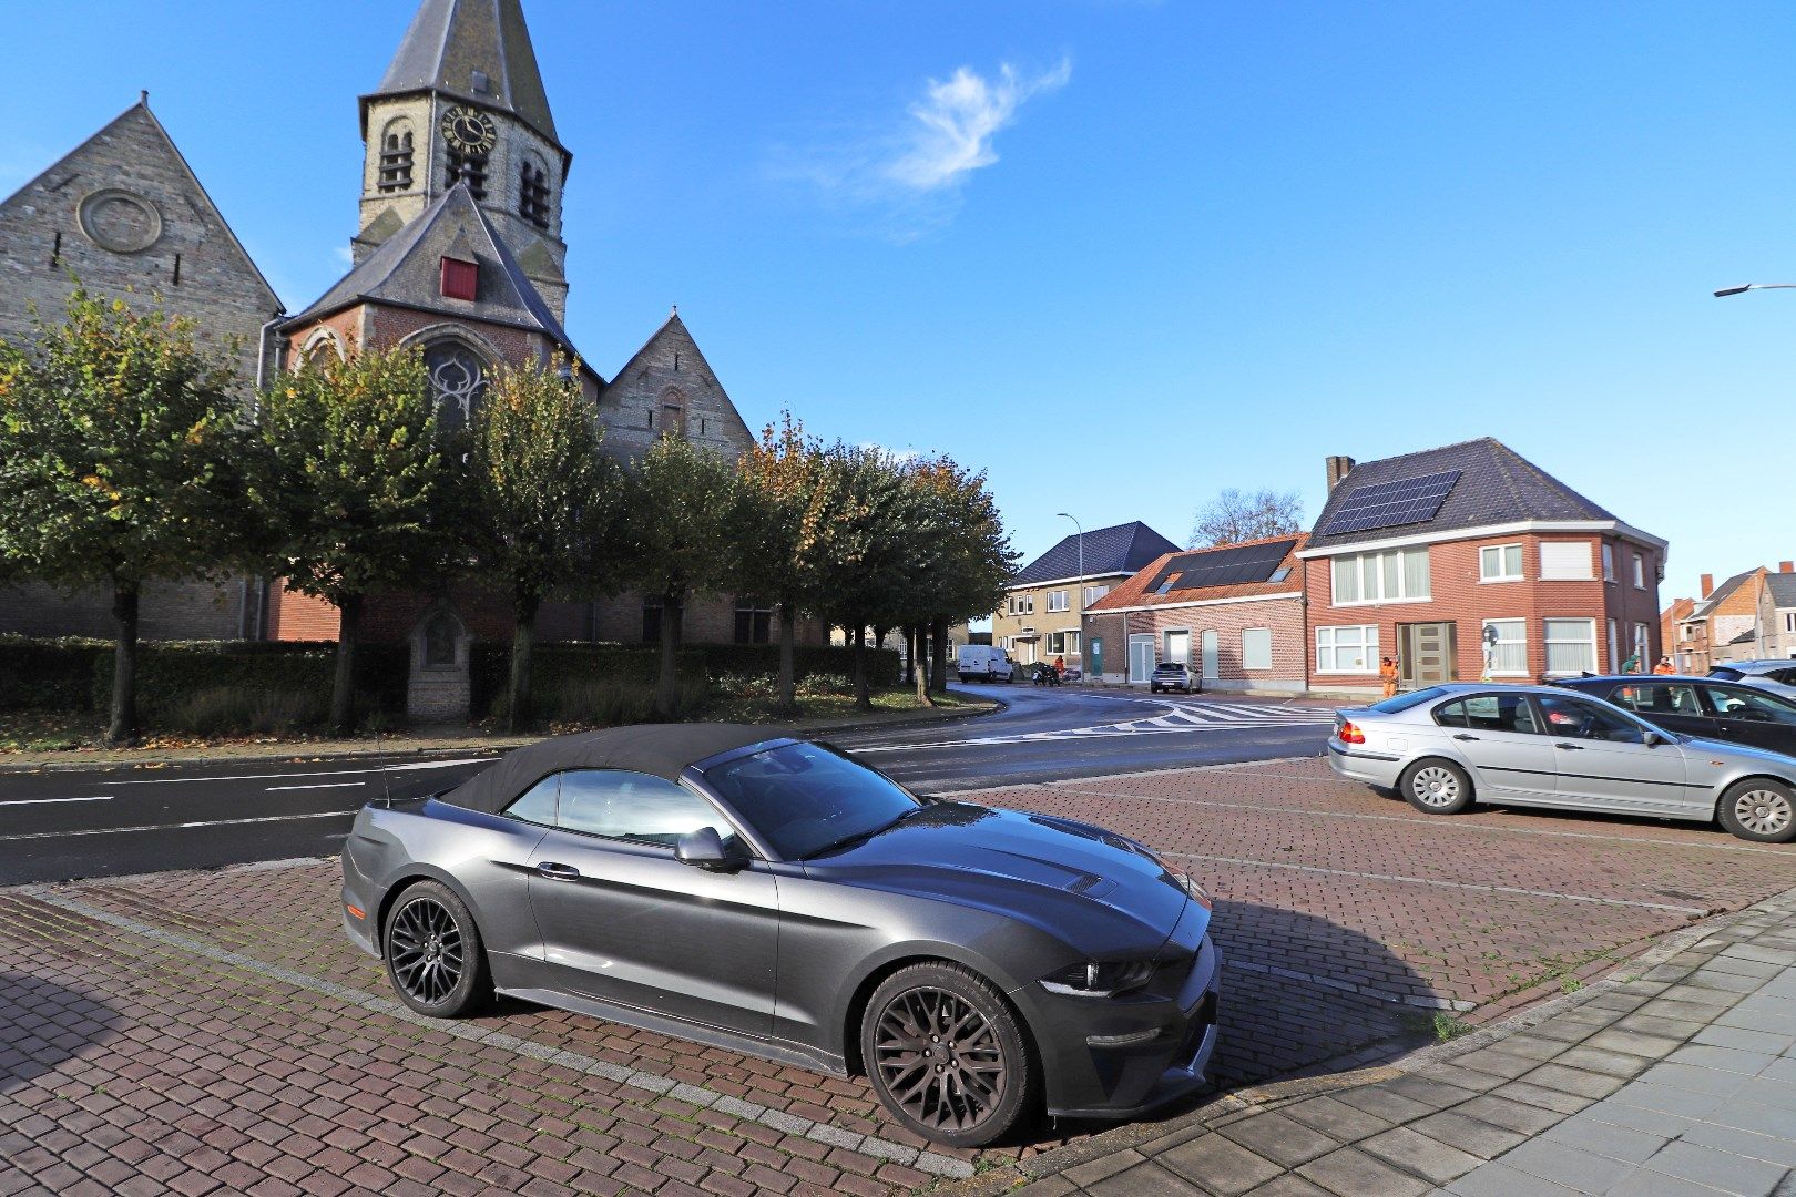
<instances>
[{"instance_id":1,"label":"windshield of the dark grey convertible with black soft top","mask_svg":"<svg viewBox=\"0 0 1796 1197\"><path fill-rule=\"evenodd\" d=\"M821 745L781 745L704 772L781 860L805 860L921 809L898 782Z\"/></svg>"}]
</instances>

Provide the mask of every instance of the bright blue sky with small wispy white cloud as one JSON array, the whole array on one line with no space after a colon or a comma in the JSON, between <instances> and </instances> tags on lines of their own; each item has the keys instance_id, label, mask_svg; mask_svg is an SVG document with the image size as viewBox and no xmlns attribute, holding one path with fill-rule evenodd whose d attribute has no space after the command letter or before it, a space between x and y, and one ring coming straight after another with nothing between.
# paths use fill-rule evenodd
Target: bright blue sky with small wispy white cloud
<instances>
[{"instance_id":1,"label":"bright blue sky with small wispy white cloud","mask_svg":"<svg viewBox=\"0 0 1796 1197\"><path fill-rule=\"evenodd\" d=\"M1796 5L526 0L569 332L990 470L1026 556L1498 436L1699 572L1796 556ZM0 4L0 192L151 90L289 309L411 0ZM1765 465L1758 465L1758 463Z\"/></svg>"}]
</instances>

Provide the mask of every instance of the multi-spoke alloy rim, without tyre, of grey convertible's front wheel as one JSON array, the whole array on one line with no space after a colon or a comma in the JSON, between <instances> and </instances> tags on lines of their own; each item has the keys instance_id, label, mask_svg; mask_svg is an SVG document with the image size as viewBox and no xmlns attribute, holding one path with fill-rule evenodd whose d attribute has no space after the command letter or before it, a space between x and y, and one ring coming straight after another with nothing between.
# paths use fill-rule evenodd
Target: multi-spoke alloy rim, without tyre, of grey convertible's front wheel
<instances>
[{"instance_id":1,"label":"multi-spoke alloy rim, without tyre, of grey convertible's front wheel","mask_svg":"<svg viewBox=\"0 0 1796 1197\"><path fill-rule=\"evenodd\" d=\"M893 1100L938 1131L972 1131L1004 1100L1009 1068L997 1030L959 994L896 994L875 1030L875 1066Z\"/></svg>"}]
</instances>

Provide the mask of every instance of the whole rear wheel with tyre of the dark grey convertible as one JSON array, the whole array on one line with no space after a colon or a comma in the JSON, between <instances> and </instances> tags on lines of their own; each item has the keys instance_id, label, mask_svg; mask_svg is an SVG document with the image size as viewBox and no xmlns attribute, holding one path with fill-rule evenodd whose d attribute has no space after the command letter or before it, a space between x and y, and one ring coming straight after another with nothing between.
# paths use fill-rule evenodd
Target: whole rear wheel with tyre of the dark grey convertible
<instances>
[{"instance_id":1,"label":"whole rear wheel with tyre of the dark grey convertible","mask_svg":"<svg viewBox=\"0 0 1796 1197\"><path fill-rule=\"evenodd\" d=\"M460 1018L492 998L487 948L454 890L418 881L386 913L386 978L418 1014Z\"/></svg>"}]
</instances>

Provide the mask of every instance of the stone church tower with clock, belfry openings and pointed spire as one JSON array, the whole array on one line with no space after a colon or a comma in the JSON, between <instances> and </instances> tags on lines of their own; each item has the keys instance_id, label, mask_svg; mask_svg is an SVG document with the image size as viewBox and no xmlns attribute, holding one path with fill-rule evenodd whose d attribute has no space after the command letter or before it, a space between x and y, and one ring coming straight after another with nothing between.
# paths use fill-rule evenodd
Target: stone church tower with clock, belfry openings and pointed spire
<instances>
[{"instance_id":1,"label":"stone church tower with clock, belfry openings and pointed spire","mask_svg":"<svg viewBox=\"0 0 1796 1197\"><path fill-rule=\"evenodd\" d=\"M361 136L357 266L463 183L566 319L573 154L555 133L521 0L422 0L381 86L361 97Z\"/></svg>"}]
</instances>

